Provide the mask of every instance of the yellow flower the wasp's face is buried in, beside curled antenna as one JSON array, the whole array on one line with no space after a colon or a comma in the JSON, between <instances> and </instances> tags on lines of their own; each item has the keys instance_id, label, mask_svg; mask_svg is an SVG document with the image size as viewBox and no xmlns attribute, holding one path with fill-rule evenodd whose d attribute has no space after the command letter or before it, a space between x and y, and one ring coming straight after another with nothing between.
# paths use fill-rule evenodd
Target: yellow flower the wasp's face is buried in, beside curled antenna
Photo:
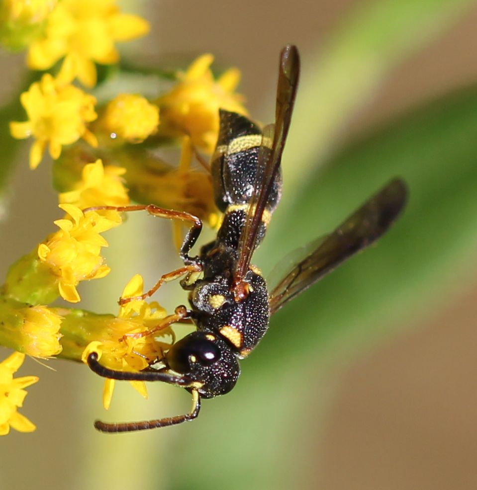
<instances>
[{"instance_id":1,"label":"yellow flower the wasp's face is buried in, beside curled antenna","mask_svg":"<svg viewBox=\"0 0 477 490\"><path fill-rule=\"evenodd\" d=\"M143 280L136 274L124 288L122 297L142 294ZM166 317L166 312L156 302L131 301L121 306L118 318L112 320L101 340L90 342L83 352L83 362L87 362L91 352L97 352L101 364L116 371L138 372L149 366L162 349L169 348L175 339L169 324L154 335L141 335L150 328L157 327ZM159 342L157 335L169 335L171 342ZM144 382L130 381L132 387L144 398L147 390ZM104 408L109 408L115 380L106 379L103 390Z\"/></svg>"}]
</instances>

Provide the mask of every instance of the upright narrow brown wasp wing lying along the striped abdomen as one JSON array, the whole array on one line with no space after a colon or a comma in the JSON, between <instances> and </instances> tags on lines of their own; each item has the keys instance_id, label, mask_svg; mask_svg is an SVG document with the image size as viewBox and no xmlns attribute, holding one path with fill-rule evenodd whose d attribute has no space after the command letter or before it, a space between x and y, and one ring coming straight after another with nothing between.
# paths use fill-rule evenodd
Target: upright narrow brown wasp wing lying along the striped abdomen
<instances>
[{"instance_id":1,"label":"upright narrow brown wasp wing lying along the striped abdomen","mask_svg":"<svg viewBox=\"0 0 477 490\"><path fill-rule=\"evenodd\" d=\"M234 273L235 283L239 283L248 271L262 216L280 172L282 153L298 85L299 65L298 50L295 46L287 45L280 54L275 125L267 126L264 130L255 194L249 202L247 223L240 237L238 260ZM271 145L270 142L272 142Z\"/></svg>"}]
</instances>

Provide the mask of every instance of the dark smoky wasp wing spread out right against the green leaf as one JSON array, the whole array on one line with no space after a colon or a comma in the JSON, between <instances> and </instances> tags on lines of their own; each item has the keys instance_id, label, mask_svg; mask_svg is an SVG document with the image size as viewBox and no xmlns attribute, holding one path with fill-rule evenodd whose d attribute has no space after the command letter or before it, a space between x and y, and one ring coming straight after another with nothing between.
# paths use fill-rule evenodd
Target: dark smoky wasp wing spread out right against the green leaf
<instances>
[{"instance_id":1,"label":"dark smoky wasp wing spread out right against the green leaf","mask_svg":"<svg viewBox=\"0 0 477 490\"><path fill-rule=\"evenodd\" d=\"M271 314L359 250L378 240L401 213L407 201L407 186L392 180L333 233L320 240L297 263L270 294Z\"/></svg>"}]
</instances>

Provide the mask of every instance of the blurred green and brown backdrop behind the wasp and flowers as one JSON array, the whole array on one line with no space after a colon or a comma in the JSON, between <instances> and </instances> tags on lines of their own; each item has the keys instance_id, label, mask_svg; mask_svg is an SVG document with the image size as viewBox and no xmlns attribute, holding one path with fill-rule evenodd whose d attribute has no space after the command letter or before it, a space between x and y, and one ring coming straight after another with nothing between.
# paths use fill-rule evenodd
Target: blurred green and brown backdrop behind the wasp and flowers
<instances>
[{"instance_id":1,"label":"blurred green and brown backdrop behind the wasp and flowers","mask_svg":"<svg viewBox=\"0 0 477 490\"><path fill-rule=\"evenodd\" d=\"M121 3L121 2L120 2ZM477 2L203 0L122 2L152 25L125 60L186 66L212 52L238 66L252 115L273 115L278 54L302 55L284 155L284 194L255 262L266 272L330 231L394 176L409 184L403 218L279 312L226 397L197 421L137 434L107 421L189 408L187 393L118 386L84 366L28 360L23 413L38 429L0 440L2 489L475 489L477 485ZM3 103L22 86L23 56L1 54ZM1 120L3 163L13 141ZM27 145L2 196L0 272L59 217L51 166L31 172ZM115 312L136 272L153 284L179 264L169 223L135 215L106 238L108 278L84 307ZM131 237L137 237L132 243ZM161 290L168 307L185 302ZM5 357L8 352L2 352Z\"/></svg>"}]
</instances>

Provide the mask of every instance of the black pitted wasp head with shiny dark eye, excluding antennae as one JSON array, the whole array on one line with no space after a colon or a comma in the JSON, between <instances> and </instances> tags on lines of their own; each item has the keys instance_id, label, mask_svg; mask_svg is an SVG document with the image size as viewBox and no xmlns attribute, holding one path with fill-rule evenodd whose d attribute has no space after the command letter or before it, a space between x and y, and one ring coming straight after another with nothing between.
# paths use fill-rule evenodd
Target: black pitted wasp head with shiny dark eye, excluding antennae
<instances>
[{"instance_id":1,"label":"black pitted wasp head with shiny dark eye, excluding antennae","mask_svg":"<svg viewBox=\"0 0 477 490\"><path fill-rule=\"evenodd\" d=\"M237 381L240 367L227 344L216 335L195 331L175 343L165 356L168 367L200 384L204 398L228 393Z\"/></svg>"}]
</instances>

